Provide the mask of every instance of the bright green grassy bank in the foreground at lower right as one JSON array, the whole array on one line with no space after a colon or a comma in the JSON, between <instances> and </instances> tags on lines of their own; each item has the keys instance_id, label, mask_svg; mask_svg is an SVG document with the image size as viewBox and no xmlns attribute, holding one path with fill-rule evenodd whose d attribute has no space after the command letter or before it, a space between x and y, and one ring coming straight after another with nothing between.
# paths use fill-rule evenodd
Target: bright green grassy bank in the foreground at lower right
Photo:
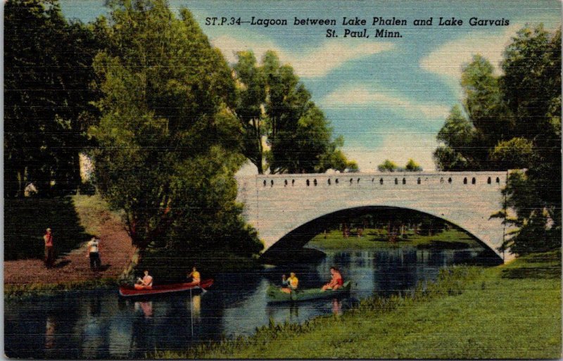
<instances>
[{"instance_id":1,"label":"bright green grassy bank in the foreground at lower right","mask_svg":"<svg viewBox=\"0 0 563 361\"><path fill-rule=\"evenodd\" d=\"M158 358L558 358L561 253L453 267L412 295Z\"/></svg>"}]
</instances>

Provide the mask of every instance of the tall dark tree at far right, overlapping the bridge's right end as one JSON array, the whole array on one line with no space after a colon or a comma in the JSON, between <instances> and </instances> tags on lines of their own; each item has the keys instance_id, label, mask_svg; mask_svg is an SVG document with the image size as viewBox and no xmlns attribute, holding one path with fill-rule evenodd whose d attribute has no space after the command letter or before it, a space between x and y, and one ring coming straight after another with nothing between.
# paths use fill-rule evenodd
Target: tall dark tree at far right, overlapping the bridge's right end
<instances>
[{"instance_id":1,"label":"tall dark tree at far right, overlapping the bridge's right end","mask_svg":"<svg viewBox=\"0 0 563 361\"><path fill-rule=\"evenodd\" d=\"M510 176L508 206L519 232L507 240L516 253L561 246L561 30L524 27L507 46L501 87L514 116L513 148L526 155L525 172ZM524 142L524 139L526 142ZM529 150L531 148L531 152ZM498 153L498 151L497 151Z\"/></svg>"}]
</instances>

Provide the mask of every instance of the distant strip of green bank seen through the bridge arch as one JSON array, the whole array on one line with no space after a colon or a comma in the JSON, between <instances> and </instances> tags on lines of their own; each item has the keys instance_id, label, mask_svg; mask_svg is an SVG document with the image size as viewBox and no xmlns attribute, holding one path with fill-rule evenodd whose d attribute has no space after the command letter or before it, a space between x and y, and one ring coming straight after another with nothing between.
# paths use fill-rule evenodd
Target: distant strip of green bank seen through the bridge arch
<instances>
[{"instance_id":1,"label":"distant strip of green bank seen through the bridge arch","mask_svg":"<svg viewBox=\"0 0 563 361\"><path fill-rule=\"evenodd\" d=\"M344 238L341 231L317 234L309 243L308 247L316 248L320 251L334 251L347 248L350 250L370 249L370 248L396 248L412 246L417 248L472 248L479 247L479 242L475 241L468 234L457 229L448 229L444 232L432 236L414 234L407 232L407 238L398 237L395 242L388 241L385 230L365 229L361 237L349 236Z\"/></svg>"}]
</instances>

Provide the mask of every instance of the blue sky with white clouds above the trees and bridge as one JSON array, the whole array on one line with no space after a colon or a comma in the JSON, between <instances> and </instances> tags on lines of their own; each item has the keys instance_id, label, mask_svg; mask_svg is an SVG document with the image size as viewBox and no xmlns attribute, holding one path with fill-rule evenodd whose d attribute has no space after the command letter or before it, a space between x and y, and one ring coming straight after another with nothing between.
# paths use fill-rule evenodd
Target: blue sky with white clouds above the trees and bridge
<instances>
[{"instance_id":1,"label":"blue sky with white clouds above the trees and bridge","mask_svg":"<svg viewBox=\"0 0 563 361\"><path fill-rule=\"evenodd\" d=\"M104 0L62 0L67 18L83 22L107 15ZM296 70L312 100L342 135L343 151L362 172L377 170L390 159L404 166L409 158L424 170L435 170L436 134L450 108L462 103L462 65L476 53L495 65L505 46L526 24L561 25L560 1L169 1L189 8L229 63L235 53L253 50L257 58L277 51L282 63ZM342 25L343 17L367 20ZM208 17L286 19L287 26L205 25ZM295 26L295 17L336 19L336 26ZM372 26L372 18L407 20L406 26ZM462 26L439 26L439 18L462 20ZM432 26L414 20L432 18ZM470 26L470 18L509 20L507 26ZM327 28L339 37L327 38ZM369 39L344 38L344 29L367 29ZM399 31L400 38L374 37L376 29ZM253 174L248 164L241 170Z\"/></svg>"}]
</instances>

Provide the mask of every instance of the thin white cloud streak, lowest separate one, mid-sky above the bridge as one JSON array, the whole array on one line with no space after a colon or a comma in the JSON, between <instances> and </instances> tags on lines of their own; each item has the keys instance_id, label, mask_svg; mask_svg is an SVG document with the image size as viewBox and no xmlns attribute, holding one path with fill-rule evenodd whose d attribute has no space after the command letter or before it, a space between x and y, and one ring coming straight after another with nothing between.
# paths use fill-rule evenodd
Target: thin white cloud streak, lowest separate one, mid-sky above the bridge
<instances>
[{"instance_id":1,"label":"thin white cloud streak, lowest separate one, mid-sky above the bridge","mask_svg":"<svg viewBox=\"0 0 563 361\"><path fill-rule=\"evenodd\" d=\"M337 89L320 101L326 107L361 107L382 108L409 118L443 120L450 108L439 103L422 103L407 99L400 94L386 94L383 91L370 90L365 87Z\"/></svg>"}]
</instances>

